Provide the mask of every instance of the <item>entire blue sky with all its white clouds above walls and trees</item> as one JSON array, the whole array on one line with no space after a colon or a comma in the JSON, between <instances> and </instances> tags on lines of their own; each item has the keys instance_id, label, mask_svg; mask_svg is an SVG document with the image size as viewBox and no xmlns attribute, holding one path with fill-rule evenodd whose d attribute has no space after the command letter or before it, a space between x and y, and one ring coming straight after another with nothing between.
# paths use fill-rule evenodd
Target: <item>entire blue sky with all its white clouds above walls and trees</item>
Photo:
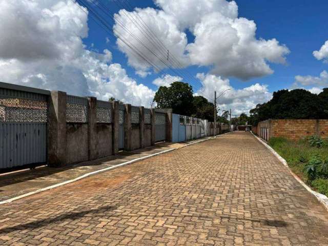
<instances>
[{"instance_id":1,"label":"entire blue sky with all its white clouds above walls and trees","mask_svg":"<svg viewBox=\"0 0 328 246\"><path fill-rule=\"evenodd\" d=\"M0 0L0 81L149 108L178 80L210 101L227 90L220 110L249 113L277 90L328 87L327 10L324 0Z\"/></svg>"}]
</instances>

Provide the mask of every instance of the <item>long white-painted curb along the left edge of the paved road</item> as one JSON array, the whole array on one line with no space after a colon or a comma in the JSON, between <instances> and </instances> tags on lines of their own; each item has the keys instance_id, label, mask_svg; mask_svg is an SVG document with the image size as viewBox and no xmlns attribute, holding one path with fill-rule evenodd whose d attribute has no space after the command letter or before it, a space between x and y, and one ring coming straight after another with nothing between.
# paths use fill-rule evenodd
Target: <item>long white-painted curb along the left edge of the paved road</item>
<instances>
[{"instance_id":1,"label":"long white-painted curb along the left edge of the paved road","mask_svg":"<svg viewBox=\"0 0 328 246\"><path fill-rule=\"evenodd\" d=\"M225 134L228 134L228 133L224 133L224 134L221 134L221 135L225 135ZM219 135L219 136L221 136L221 135ZM213 139L213 138L214 137L208 137L206 139L201 139L199 141L191 142L190 144L187 144L187 145L182 146L180 148L184 148L184 147L187 147L187 146L190 146L190 145L198 144L198 142L206 141L206 140ZM171 152L173 150L177 150L177 149L180 149L180 148L172 148L172 149L161 151L161 152L158 152L158 153L155 153L155 154L151 154L151 155L139 157L139 158L136 158L136 159L133 159L133 160L129 160L127 162L120 163L120 164L115 165L113 167L108 167L108 168L100 169L100 170L97 170L97 171L94 171L94 172L86 173L86 174L81 175L81 176L79 176L77 178L70 179L70 180L67 180L67 181L61 182L61 183L56 183L56 185L48 186L48 187L45 187L45 188L42 188L42 189L38 189L36 191L31 191L31 192L28 192L28 193L23 194L23 195L20 195L20 196L16 196L16 197L13 197L13 198L4 200L4 201L0 201L0 205L1 204L6 204L6 203L10 203L12 201L15 201L15 200L18 200L18 199L27 197L27 196L31 196L31 195L34 195L34 194L37 194L37 193L40 193L40 192L43 192L43 191L48 191L48 190L51 190L51 189L54 189L54 188L57 188L57 187L60 187L60 186L64 186L64 185L67 185L68 183L72 183L72 182L75 182L77 180L80 180L80 179L83 179L83 178L86 178L86 177L90 177L90 176L95 175L95 174L98 174L98 173L103 173L103 172L106 172L106 171L109 171L109 170L112 170L112 169L115 169L115 168L124 167L124 166L127 166L129 164L132 164L134 162L137 162L137 161L140 161L140 160L144 160L144 159L148 159L150 157L153 157L153 156L156 156L156 155L160 155L160 154L164 154L164 153L167 153L167 152Z\"/></svg>"}]
</instances>

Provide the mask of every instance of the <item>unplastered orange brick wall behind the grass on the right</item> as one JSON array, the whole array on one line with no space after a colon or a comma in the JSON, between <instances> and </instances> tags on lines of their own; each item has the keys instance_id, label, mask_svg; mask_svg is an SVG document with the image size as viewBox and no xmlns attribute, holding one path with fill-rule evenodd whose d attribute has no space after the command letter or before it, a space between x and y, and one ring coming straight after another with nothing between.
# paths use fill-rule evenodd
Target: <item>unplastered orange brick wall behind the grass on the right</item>
<instances>
[{"instance_id":1,"label":"unplastered orange brick wall behind the grass on the right","mask_svg":"<svg viewBox=\"0 0 328 246\"><path fill-rule=\"evenodd\" d=\"M328 119L268 119L253 127L253 132L265 140L270 137L298 140L312 135L326 138Z\"/></svg>"}]
</instances>

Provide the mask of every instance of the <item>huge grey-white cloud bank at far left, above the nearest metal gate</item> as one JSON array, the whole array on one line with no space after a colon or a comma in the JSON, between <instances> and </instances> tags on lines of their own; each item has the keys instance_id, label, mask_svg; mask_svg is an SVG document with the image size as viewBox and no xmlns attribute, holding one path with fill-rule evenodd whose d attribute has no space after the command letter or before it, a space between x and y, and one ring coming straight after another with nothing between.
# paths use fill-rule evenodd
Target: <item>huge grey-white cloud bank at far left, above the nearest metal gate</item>
<instances>
[{"instance_id":1,"label":"huge grey-white cloud bank at far left, above the nearest metal gate","mask_svg":"<svg viewBox=\"0 0 328 246\"><path fill-rule=\"evenodd\" d=\"M109 50L86 49L88 14L80 8L71 0L0 0L0 80L149 107L153 90L112 63Z\"/></svg>"}]
</instances>

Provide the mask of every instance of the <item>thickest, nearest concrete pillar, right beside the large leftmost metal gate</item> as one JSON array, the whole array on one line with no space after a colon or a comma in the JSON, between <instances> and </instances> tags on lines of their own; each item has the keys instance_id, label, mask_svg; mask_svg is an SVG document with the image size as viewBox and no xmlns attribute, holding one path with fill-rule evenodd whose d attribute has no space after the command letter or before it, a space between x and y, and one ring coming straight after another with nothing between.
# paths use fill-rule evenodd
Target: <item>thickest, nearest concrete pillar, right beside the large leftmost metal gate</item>
<instances>
[{"instance_id":1,"label":"thickest, nearest concrete pillar, right beside the large leftmost metal gate","mask_svg":"<svg viewBox=\"0 0 328 246\"><path fill-rule=\"evenodd\" d=\"M48 121L48 165L66 165L66 92L51 91Z\"/></svg>"}]
</instances>

